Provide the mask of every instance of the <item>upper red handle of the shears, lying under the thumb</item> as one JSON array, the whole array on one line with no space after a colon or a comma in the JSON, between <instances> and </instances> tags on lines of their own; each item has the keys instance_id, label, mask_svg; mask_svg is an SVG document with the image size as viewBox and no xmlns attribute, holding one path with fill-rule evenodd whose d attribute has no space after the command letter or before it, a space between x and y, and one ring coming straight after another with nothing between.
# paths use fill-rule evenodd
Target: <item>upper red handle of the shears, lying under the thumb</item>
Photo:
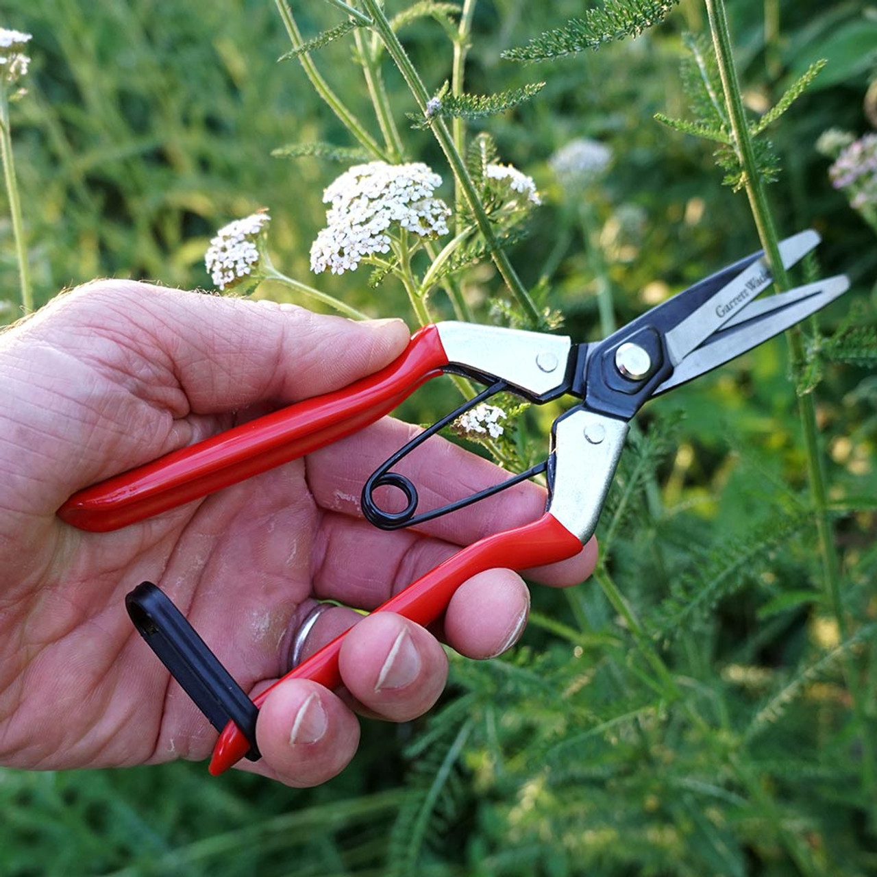
<instances>
[{"instance_id":1,"label":"upper red handle of the shears, lying under the thumb","mask_svg":"<svg viewBox=\"0 0 877 877\"><path fill-rule=\"evenodd\" d=\"M81 490L58 515L82 530L104 532L174 509L374 423L446 365L439 331L428 325L380 372Z\"/></svg>"}]
</instances>

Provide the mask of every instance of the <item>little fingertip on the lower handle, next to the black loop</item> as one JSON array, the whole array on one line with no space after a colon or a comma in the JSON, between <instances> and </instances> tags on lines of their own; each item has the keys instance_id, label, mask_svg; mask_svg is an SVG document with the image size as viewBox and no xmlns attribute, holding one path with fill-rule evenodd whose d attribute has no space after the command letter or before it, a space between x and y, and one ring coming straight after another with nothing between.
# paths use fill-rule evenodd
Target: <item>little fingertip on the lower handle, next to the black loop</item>
<instances>
[{"instance_id":1,"label":"little fingertip on the lower handle, next to the black loop","mask_svg":"<svg viewBox=\"0 0 877 877\"><path fill-rule=\"evenodd\" d=\"M267 695L256 742L265 762L260 773L274 774L297 788L316 786L353 759L360 724L338 695L317 682L292 679Z\"/></svg>"}]
</instances>

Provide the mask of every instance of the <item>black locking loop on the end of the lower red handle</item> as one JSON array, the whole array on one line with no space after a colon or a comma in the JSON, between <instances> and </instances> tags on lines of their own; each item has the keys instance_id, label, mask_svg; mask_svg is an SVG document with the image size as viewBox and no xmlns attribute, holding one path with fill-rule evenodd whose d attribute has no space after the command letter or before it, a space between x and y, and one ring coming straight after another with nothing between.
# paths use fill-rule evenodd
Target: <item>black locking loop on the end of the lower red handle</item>
<instances>
[{"instance_id":1,"label":"black locking loop on the end of the lower red handle","mask_svg":"<svg viewBox=\"0 0 877 877\"><path fill-rule=\"evenodd\" d=\"M125 596L125 608L146 640L183 691L217 731L230 721L250 744L246 757L258 761L256 719L259 708L210 651L174 602L151 581L141 582Z\"/></svg>"}]
</instances>

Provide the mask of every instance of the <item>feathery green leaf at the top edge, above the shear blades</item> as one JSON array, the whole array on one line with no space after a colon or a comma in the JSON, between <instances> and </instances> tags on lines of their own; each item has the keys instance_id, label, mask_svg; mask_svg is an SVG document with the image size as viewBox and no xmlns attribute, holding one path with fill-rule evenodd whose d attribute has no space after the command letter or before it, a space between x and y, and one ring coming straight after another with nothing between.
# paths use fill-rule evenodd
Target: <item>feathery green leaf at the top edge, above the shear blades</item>
<instances>
[{"instance_id":1,"label":"feathery green leaf at the top edge, above the shear blades","mask_svg":"<svg viewBox=\"0 0 877 877\"><path fill-rule=\"evenodd\" d=\"M598 49L625 37L637 37L657 25L679 0L606 0L602 9L585 12L562 27L547 31L526 46L503 52L509 61L547 61Z\"/></svg>"}]
</instances>

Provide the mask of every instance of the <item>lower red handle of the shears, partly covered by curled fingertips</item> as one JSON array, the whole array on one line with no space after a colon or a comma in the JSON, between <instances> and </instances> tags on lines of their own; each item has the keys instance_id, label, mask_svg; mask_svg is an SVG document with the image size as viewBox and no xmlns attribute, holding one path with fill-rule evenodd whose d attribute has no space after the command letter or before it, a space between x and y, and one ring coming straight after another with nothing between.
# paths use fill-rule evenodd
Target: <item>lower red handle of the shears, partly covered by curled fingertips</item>
<instances>
[{"instance_id":1,"label":"lower red handle of the shears, partly covered by curled fingertips","mask_svg":"<svg viewBox=\"0 0 877 877\"><path fill-rule=\"evenodd\" d=\"M581 551L581 541L550 513L531 524L496 533L448 558L444 563L417 579L408 588L383 603L375 612L396 612L417 624L431 624L445 611L454 591L476 573L486 569L529 569L546 563L566 560ZM286 679L310 679L326 688L341 684L338 657L346 632L324 645L319 652L290 670L271 688L253 699L260 707L268 692ZM246 737L230 722L219 735L210 759L210 773L222 774L242 759L249 749Z\"/></svg>"}]
</instances>

